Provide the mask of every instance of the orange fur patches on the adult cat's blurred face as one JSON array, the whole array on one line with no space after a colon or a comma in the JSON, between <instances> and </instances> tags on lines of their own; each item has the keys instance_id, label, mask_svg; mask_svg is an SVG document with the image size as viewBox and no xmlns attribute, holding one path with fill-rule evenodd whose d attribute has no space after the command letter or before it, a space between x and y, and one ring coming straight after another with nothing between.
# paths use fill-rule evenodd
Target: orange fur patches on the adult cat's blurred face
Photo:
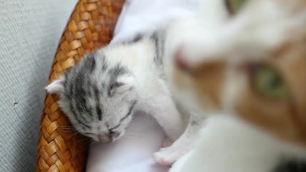
<instances>
[{"instance_id":1,"label":"orange fur patches on the adult cat's blurred face","mask_svg":"<svg viewBox=\"0 0 306 172\"><path fill-rule=\"evenodd\" d=\"M277 68L290 89L290 99L266 100L254 89L249 79L246 87L231 102L243 119L266 129L279 138L306 145L306 42L286 43L263 62ZM241 69L237 69L241 72ZM182 71L177 71L176 81ZM203 62L188 71L197 100L205 111L221 110L222 93L229 72L226 61ZM246 72L246 71L244 71ZM245 73L246 77L249 77ZM207 100L210 101L207 101Z\"/></svg>"}]
</instances>

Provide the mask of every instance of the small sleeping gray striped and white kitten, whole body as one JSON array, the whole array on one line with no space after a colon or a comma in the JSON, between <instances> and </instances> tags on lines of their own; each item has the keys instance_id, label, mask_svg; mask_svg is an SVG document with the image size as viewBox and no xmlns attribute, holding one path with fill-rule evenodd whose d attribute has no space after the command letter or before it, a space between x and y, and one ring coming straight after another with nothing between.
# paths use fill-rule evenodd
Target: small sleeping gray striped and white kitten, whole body
<instances>
[{"instance_id":1,"label":"small sleeping gray striped and white kitten, whole body","mask_svg":"<svg viewBox=\"0 0 306 172\"><path fill-rule=\"evenodd\" d=\"M120 138L136 111L154 117L171 141L185 131L170 147L154 154L158 163L169 165L193 147L202 120L179 106L170 92L164 65L165 33L87 54L46 90L59 95L59 107L75 129L96 141Z\"/></svg>"}]
</instances>

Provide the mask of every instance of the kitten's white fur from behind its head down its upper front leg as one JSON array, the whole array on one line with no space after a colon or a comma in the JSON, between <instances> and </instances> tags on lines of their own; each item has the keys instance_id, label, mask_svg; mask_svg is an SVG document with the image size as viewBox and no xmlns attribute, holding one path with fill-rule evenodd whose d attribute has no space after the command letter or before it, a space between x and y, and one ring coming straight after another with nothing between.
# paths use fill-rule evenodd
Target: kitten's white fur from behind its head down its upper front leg
<instances>
[{"instance_id":1,"label":"kitten's white fur from behind its head down its upper front leg","mask_svg":"<svg viewBox=\"0 0 306 172\"><path fill-rule=\"evenodd\" d=\"M154 117L171 139L177 139L185 127L168 87L159 78L152 63L154 42L144 38L137 44L113 45L104 49L104 54L110 57L110 63L120 61L129 66L135 75L138 102L135 109Z\"/></svg>"}]
</instances>

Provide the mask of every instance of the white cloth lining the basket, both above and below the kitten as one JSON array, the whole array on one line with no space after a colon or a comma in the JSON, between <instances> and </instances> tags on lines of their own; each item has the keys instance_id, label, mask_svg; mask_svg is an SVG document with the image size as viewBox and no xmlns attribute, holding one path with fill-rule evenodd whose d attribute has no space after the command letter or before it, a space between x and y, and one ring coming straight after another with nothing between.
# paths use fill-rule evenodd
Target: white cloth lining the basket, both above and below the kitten
<instances>
[{"instance_id":1,"label":"white cloth lining the basket, both above and below the kitten","mask_svg":"<svg viewBox=\"0 0 306 172\"><path fill-rule=\"evenodd\" d=\"M170 22L194 15L200 0L127 0L119 16L111 44L130 41L138 34L150 34ZM136 114L126 136L114 143L90 147L88 172L164 172L152 154L165 137L158 123ZM131 133L131 134L129 134Z\"/></svg>"}]
</instances>

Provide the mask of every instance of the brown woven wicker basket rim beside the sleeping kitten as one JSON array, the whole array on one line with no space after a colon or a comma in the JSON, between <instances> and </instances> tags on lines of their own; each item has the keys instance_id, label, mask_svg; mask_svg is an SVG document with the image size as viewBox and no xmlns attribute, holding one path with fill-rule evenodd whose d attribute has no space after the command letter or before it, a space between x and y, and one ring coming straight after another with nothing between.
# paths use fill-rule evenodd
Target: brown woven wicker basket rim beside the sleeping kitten
<instances>
[{"instance_id":1,"label":"brown woven wicker basket rim beside the sleeping kitten","mask_svg":"<svg viewBox=\"0 0 306 172\"><path fill-rule=\"evenodd\" d=\"M73 66L80 57L107 44L124 0L79 0L72 12L54 57L49 82ZM40 121L36 171L84 171L87 138L75 131L57 106L57 97L46 95Z\"/></svg>"}]
</instances>

